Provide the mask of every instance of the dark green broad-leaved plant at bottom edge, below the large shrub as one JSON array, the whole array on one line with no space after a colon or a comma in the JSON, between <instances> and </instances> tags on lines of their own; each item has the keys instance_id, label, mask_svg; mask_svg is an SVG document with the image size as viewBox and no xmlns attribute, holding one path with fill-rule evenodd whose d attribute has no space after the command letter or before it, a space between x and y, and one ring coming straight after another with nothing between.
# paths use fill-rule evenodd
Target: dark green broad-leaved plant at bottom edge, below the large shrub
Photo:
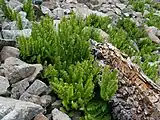
<instances>
[{"instance_id":1,"label":"dark green broad-leaved plant at bottom edge, below the large shrub","mask_svg":"<svg viewBox=\"0 0 160 120\"><path fill-rule=\"evenodd\" d=\"M85 110L85 120L111 120L109 104L102 100L92 100Z\"/></svg>"}]
</instances>

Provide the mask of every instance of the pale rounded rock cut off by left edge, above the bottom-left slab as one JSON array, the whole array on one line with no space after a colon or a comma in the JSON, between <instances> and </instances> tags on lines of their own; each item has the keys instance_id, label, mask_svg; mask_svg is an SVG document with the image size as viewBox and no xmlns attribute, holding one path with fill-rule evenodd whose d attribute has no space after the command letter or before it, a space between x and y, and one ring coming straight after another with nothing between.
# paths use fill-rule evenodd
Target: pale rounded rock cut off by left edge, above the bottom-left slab
<instances>
[{"instance_id":1,"label":"pale rounded rock cut off by left edge, above the bottom-left slab","mask_svg":"<svg viewBox=\"0 0 160 120\"><path fill-rule=\"evenodd\" d=\"M0 76L0 95L5 95L8 91L9 81L7 78Z\"/></svg>"}]
</instances>

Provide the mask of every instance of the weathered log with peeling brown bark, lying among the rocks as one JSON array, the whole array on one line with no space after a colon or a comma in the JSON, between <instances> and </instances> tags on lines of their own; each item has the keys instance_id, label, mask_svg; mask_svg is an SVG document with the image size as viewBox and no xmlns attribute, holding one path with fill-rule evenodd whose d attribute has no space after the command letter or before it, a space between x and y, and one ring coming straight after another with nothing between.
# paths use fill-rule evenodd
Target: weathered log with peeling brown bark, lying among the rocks
<instances>
[{"instance_id":1,"label":"weathered log with peeling brown bark, lying among the rocks","mask_svg":"<svg viewBox=\"0 0 160 120\"><path fill-rule=\"evenodd\" d=\"M119 89L111 100L116 120L160 120L160 86L110 43L91 40L97 60L118 70Z\"/></svg>"}]
</instances>

